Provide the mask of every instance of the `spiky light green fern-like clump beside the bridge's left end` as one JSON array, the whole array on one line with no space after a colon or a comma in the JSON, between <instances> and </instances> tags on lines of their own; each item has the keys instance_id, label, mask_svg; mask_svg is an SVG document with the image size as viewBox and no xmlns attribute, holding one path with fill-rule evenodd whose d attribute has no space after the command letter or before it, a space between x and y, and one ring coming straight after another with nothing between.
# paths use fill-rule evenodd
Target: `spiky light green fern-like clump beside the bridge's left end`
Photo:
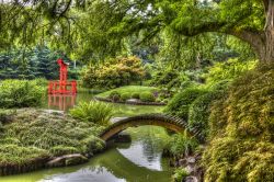
<instances>
[{"instance_id":1,"label":"spiky light green fern-like clump beside the bridge's left end","mask_svg":"<svg viewBox=\"0 0 274 182\"><path fill-rule=\"evenodd\" d=\"M110 118L113 116L113 107L98 101L81 102L75 109L70 110L69 113L72 117L82 122L107 125Z\"/></svg>"}]
</instances>

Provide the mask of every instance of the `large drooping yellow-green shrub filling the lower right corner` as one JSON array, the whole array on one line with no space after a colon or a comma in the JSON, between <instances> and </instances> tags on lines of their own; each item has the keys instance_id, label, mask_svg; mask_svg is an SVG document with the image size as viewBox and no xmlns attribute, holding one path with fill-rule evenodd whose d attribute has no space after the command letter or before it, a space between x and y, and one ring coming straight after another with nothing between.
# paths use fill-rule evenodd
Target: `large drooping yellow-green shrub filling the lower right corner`
<instances>
[{"instance_id":1,"label":"large drooping yellow-green shrub filling the lower right corner","mask_svg":"<svg viewBox=\"0 0 274 182\"><path fill-rule=\"evenodd\" d=\"M236 80L209 120L205 181L274 181L274 64Z\"/></svg>"}]
</instances>

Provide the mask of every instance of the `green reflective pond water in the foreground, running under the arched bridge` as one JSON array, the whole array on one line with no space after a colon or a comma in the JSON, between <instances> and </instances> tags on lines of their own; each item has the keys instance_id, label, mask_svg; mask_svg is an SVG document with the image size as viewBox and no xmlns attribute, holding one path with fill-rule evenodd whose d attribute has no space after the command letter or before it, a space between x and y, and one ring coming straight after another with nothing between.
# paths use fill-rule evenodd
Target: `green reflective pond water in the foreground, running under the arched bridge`
<instances>
[{"instance_id":1,"label":"green reflective pond water in the foreground, running under the arched bridge","mask_svg":"<svg viewBox=\"0 0 274 182\"><path fill-rule=\"evenodd\" d=\"M172 169L161 158L165 130L157 126L130 128L130 144L114 144L88 163L1 177L0 182L169 182Z\"/></svg>"}]
</instances>

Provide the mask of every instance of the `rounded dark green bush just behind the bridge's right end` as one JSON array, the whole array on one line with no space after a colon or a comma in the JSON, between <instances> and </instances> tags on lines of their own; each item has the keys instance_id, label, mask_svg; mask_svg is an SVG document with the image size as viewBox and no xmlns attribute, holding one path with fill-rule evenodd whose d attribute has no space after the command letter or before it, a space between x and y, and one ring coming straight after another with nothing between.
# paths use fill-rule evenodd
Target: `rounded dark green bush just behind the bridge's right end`
<instances>
[{"instance_id":1,"label":"rounded dark green bush just behind the bridge's right end","mask_svg":"<svg viewBox=\"0 0 274 182\"><path fill-rule=\"evenodd\" d=\"M170 100L167 107L164 109L164 112L172 114L172 115L176 115L176 116L187 121L190 105L198 96L201 96L205 93L206 93L206 91L201 90L201 89L196 89L196 88L186 89L183 92L175 94Z\"/></svg>"}]
</instances>

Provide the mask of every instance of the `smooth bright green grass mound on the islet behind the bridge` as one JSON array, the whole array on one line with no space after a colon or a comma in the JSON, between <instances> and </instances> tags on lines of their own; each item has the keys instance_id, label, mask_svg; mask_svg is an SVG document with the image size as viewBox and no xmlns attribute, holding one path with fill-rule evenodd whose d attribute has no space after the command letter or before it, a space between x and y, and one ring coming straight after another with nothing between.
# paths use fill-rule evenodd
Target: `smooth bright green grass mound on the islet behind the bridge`
<instances>
[{"instance_id":1,"label":"smooth bright green grass mound on the islet behind the bridge","mask_svg":"<svg viewBox=\"0 0 274 182\"><path fill-rule=\"evenodd\" d=\"M121 94L123 93L134 93L134 92L152 92L152 91L157 91L158 89L155 87L145 87L145 86L125 86L125 87L121 87L121 88L116 88L113 90L109 90L106 92L100 93L96 96L100 98L107 98L110 95L111 92L113 91L117 91Z\"/></svg>"}]
</instances>

